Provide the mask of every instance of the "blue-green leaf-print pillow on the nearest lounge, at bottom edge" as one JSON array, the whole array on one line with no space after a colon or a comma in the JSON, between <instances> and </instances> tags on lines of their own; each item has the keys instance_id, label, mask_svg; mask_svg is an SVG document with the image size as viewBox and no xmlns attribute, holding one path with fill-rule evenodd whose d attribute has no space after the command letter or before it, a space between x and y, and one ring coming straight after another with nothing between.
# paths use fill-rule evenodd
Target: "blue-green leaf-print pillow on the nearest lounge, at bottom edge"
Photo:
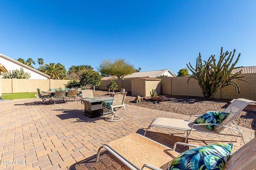
<instances>
[{"instance_id":1,"label":"blue-green leaf-print pillow on the nearest lounge, at bottom edge","mask_svg":"<svg viewBox=\"0 0 256 170\"><path fill-rule=\"evenodd\" d=\"M175 158L167 170L222 170L233 144L216 143L186 150Z\"/></svg>"}]
</instances>

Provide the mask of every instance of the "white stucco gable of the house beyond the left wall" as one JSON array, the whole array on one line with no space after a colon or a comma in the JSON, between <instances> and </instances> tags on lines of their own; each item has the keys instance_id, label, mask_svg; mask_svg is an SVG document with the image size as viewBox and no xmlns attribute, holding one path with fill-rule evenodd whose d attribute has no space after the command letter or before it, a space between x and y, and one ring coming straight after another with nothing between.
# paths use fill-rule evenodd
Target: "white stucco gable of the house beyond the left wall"
<instances>
[{"instance_id":1,"label":"white stucco gable of the house beyond the left wall","mask_svg":"<svg viewBox=\"0 0 256 170\"><path fill-rule=\"evenodd\" d=\"M25 64L22 64L3 54L0 54L0 64L4 65L7 71L12 71L16 69L20 70L20 68L23 68L24 72L30 73L31 77L29 79L49 79L50 78L50 76L48 76L47 74L44 74Z\"/></svg>"}]
</instances>

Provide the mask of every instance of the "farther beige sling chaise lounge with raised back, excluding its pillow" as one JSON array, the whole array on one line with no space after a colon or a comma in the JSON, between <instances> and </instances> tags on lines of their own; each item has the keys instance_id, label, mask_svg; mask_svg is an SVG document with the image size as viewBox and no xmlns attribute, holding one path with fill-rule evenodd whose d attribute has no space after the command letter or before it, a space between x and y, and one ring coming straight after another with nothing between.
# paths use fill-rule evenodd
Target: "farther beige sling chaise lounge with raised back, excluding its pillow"
<instances>
[{"instance_id":1,"label":"farther beige sling chaise lounge with raised back, excluding its pillow","mask_svg":"<svg viewBox=\"0 0 256 170\"><path fill-rule=\"evenodd\" d=\"M170 128L170 129L184 130L186 132L185 143L188 139L188 136L193 131L241 137L242 141L244 143L247 143L247 140L244 134L242 133L241 129L238 127L234 119L248 104L256 104L256 101L241 99L241 98L233 100L233 102L223 111L224 113L229 113L229 115L220 124L217 124L217 123L196 124L194 123L194 121L190 121L191 117L194 117L194 116L198 117L200 115L192 115L190 116L189 120L158 117L150 123L150 125L148 126L148 128L144 133L144 136L146 135L148 129L150 129L151 127L164 127L164 128ZM204 125L206 126L213 125L213 126L216 126L216 128L211 131L206 127L203 127ZM228 129L231 133L222 133L224 129Z\"/></svg>"}]
</instances>

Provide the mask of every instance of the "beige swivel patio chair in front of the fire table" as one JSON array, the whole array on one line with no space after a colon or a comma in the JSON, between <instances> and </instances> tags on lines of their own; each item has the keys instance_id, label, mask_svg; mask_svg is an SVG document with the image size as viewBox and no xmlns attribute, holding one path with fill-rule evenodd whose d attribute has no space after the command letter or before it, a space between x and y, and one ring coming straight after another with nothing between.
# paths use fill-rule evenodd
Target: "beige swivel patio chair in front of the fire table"
<instances>
[{"instance_id":1,"label":"beige swivel patio chair in front of the fire table","mask_svg":"<svg viewBox=\"0 0 256 170\"><path fill-rule=\"evenodd\" d=\"M113 100L102 102L101 108L105 111L111 112L112 115L105 118L106 121L120 121L122 117L116 115L116 111L124 107L124 98L127 92L118 92L114 94ZM116 119L114 119L116 118Z\"/></svg>"}]
</instances>

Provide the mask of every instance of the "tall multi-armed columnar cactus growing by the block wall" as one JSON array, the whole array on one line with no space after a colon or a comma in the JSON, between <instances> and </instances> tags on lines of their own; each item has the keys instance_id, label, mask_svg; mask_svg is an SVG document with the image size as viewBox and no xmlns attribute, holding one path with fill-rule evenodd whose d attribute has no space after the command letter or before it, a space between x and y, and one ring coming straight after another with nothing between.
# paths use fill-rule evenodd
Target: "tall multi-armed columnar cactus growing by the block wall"
<instances>
[{"instance_id":1,"label":"tall multi-armed columnar cactus growing by the block wall","mask_svg":"<svg viewBox=\"0 0 256 170\"><path fill-rule=\"evenodd\" d=\"M228 51L226 51L226 53L222 53L222 50L223 48L221 47L220 59L218 63L216 63L215 55L212 55L208 61L204 61L203 64L201 55L199 53L199 57L196 59L196 68L193 68L190 63L190 66L187 64L189 70L192 72L188 78L188 81L191 78L198 80L198 84L202 89L202 94L206 99L213 98L221 88L229 85L234 86L236 88L236 92L240 93L238 84L232 80L243 80L241 78L244 76L239 76L242 73L242 70L235 74L231 74L233 69L240 68L235 67L240 54L238 55L236 61L232 63L236 50L234 49L233 55L232 52L228 53ZM243 81L248 82L247 80Z\"/></svg>"}]
</instances>

